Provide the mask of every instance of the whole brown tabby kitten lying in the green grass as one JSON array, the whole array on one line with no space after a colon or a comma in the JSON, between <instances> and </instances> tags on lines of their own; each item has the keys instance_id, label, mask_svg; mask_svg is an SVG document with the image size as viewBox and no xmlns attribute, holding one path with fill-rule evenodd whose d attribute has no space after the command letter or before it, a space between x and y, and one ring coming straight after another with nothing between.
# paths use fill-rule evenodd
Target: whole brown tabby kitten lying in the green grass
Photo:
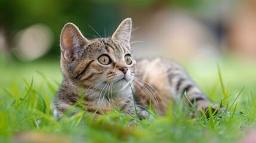
<instances>
[{"instance_id":1,"label":"whole brown tabby kitten lying in the green grass","mask_svg":"<svg viewBox=\"0 0 256 143\"><path fill-rule=\"evenodd\" d=\"M180 101L185 91L199 111L208 108L211 102L174 62L155 58L137 63L129 45L131 30L131 18L122 21L111 38L88 40L74 24L63 27L63 83L55 98L59 116L81 98L82 108L95 117L114 108L135 116L136 105L139 119L147 118L143 107L150 102L157 114L165 115L169 102Z\"/></svg>"}]
</instances>

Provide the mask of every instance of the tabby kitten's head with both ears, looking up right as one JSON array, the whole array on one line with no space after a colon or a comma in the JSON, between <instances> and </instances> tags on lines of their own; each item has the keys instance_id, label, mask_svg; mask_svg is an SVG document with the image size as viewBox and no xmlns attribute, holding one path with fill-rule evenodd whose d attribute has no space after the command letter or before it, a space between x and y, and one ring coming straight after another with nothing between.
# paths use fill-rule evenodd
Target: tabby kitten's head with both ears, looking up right
<instances>
[{"instance_id":1,"label":"tabby kitten's head with both ears, looking up right","mask_svg":"<svg viewBox=\"0 0 256 143\"><path fill-rule=\"evenodd\" d=\"M118 26L111 38L84 38L75 24L61 32L61 71L64 80L85 88L119 91L134 79L136 61L131 54L131 18Z\"/></svg>"}]
</instances>

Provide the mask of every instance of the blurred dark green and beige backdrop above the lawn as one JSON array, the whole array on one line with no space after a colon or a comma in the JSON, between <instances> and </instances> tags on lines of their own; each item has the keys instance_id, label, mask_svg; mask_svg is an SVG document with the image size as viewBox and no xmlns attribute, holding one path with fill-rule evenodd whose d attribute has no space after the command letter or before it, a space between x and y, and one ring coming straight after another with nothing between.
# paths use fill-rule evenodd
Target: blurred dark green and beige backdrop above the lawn
<instances>
[{"instance_id":1,"label":"blurred dark green and beige backdrop above the lawn","mask_svg":"<svg viewBox=\"0 0 256 143\"><path fill-rule=\"evenodd\" d=\"M254 0L1 0L0 50L21 61L58 58L65 23L75 23L93 38L98 35L92 28L100 36L110 36L131 17L136 29L132 41L141 41L132 45L138 56L156 56L157 51L178 59L214 58L235 52L254 58L255 7Z\"/></svg>"}]
</instances>

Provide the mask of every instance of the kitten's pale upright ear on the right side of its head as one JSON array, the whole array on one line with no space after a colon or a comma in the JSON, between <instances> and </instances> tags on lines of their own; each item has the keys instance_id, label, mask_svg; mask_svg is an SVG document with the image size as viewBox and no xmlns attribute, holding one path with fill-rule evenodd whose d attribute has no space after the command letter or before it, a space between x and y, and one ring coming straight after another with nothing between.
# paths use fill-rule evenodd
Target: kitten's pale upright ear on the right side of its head
<instances>
[{"instance_id":1,"label":"kitten's pale upright ear on the right side of its head","mask_svg":"<svg viewBox=\"0 0 256 143\"><path fill-rule=\"evenodd\" d=\"M119 41L122 46L129 46L129 39L131 38L131 18L126 18L122 23L118 26L115 33L112 35L112 39Z\"/></svg>"}]
</instances>

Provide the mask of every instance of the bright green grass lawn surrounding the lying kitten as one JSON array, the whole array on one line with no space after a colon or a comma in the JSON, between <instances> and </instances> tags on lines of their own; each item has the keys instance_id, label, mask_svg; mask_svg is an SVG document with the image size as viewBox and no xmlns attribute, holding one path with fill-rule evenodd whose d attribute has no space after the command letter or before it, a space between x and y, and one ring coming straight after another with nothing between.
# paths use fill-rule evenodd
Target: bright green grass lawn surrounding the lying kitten
<instances>
[{"instance_id":1,"label":"bright green grass lawn surrounding the lying kitten","mask_svg":"<svg viewBox=\"0 0 256 143\"><path fill-rule=\"evenodd\" d=\"M224 113L193 118L193 107L170 102L165 117L128 127L131 117L118 110L96 121L85 111L55 119L58 61L7 64L0 58L0 142L237 142L255 128L256 67L234 60L218 63L184 65L212 101L226 106Z\"/></svg>"}]
</instances>

